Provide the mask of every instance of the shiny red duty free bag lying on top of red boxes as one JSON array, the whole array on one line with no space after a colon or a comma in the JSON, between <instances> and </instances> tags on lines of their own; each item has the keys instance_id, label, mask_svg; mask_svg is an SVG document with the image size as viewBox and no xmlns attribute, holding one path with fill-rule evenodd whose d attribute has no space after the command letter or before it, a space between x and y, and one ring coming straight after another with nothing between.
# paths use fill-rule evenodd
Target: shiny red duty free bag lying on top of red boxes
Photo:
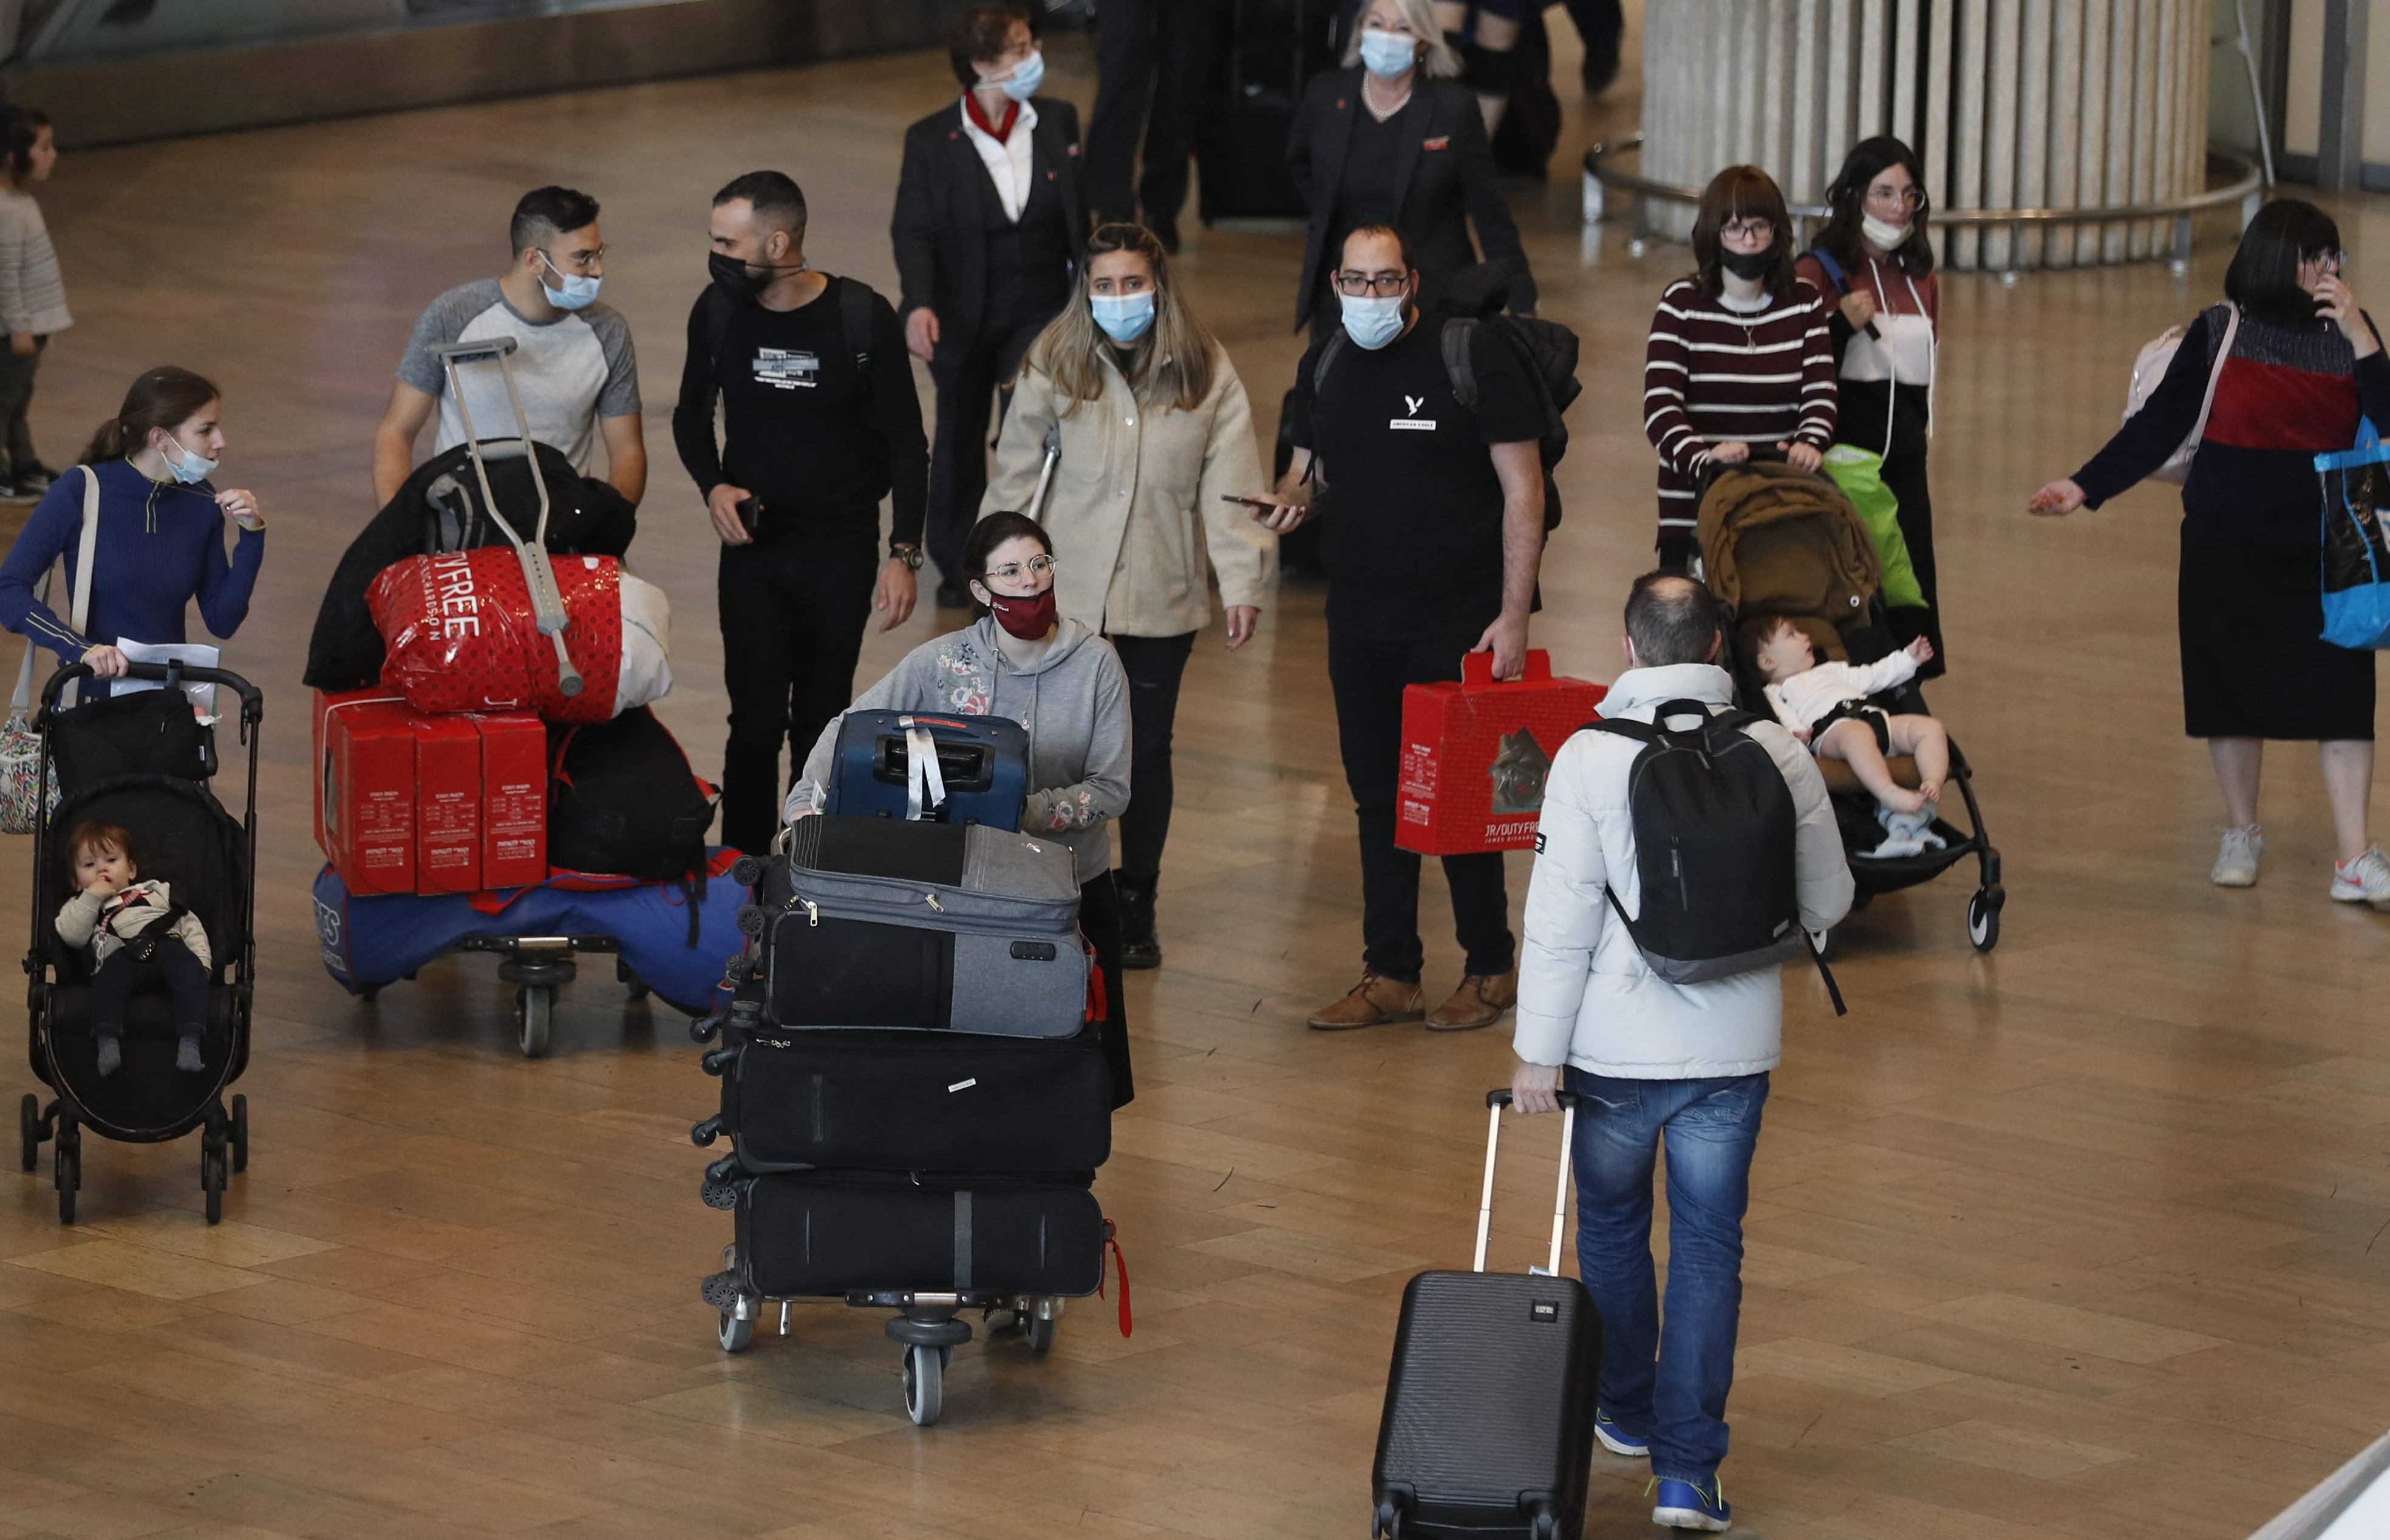
<instances>
[{"instance_id":1,"label":"shiny red duty free bag lying on top of red boxes","mask_svg":"<svg viewBox=\"0 0 2390 1540\"><path fill-rule=\"evenodd\" d=\"M373 579L366 607L385 643L382 689L421 713L612 720L621 682L621 564L571 555L552 562L581 693L564 693L557 643L540 636L521 557L507 545L406 557Z\"/></svg>"}]
</instances>

